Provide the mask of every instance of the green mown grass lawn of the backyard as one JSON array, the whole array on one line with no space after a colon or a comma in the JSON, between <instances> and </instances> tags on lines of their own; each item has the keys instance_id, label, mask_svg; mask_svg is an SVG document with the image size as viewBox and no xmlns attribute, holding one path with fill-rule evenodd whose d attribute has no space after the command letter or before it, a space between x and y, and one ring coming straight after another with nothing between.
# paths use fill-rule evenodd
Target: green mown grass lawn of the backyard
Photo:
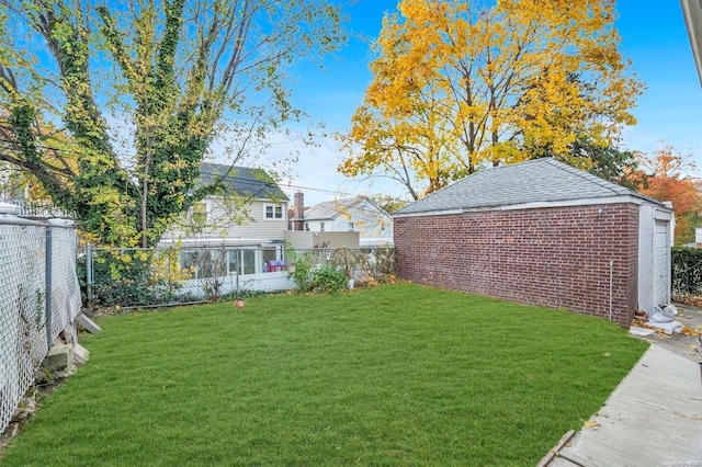
<instances>
[{"instance_id":1,"label":"green mown grass lawn of the backyard","mask_svg":"<svg viewBox=\"0 0 702 467\"><path fill-rule=\"evenodd\" d=\"M105 317L3 466L534 465L646 344L397 284Z\"/></svg>"}]
</instances>

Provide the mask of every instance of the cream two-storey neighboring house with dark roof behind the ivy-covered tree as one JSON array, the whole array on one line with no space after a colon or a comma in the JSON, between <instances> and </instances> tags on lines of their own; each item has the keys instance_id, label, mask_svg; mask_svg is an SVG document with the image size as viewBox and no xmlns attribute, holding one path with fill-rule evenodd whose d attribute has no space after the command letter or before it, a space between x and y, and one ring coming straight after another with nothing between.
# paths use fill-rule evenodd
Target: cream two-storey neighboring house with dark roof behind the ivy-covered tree
<instances>
[{"instance_id":1,"label":"cream two-storey neighboring house with dark roof behind the ivy-covered tree","mask_svg":"<svg viewBox=\"0 0 702 467\"><path fill-rule=\"evenodd\" d=\"M160 244L180 244L181 265L195 267L196 277L215 274L223 262L227 274L265 272L267 262L283 260L288 197L262 169L203 163L199 183L218 180L229 194L195 204ZM202 247L220 251L202 253Z\"/></svg>"}]
</instances>

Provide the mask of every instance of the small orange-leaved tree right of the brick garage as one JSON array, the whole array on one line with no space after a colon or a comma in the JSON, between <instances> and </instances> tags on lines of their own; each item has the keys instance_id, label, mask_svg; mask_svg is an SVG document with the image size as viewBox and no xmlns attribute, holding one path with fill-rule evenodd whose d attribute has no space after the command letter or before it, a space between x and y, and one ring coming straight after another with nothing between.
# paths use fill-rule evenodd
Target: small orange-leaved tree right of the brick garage
<instances>
[{"instance_id":1,"label":"small orange-leaved tree right of the brick garage","mask_svg":"<svg viewBox=\"0 0 702 467\"><path fill-rule=\"evenodd\" d=\"M682 156L668 146L649 157L638 152L638 170L630 174L642 194L658 201L672 202L676 215L675 241L694 241L694 227L702 220L702 185L690 173L694 171L692 156Z\"/></svg>"}]
</instances>

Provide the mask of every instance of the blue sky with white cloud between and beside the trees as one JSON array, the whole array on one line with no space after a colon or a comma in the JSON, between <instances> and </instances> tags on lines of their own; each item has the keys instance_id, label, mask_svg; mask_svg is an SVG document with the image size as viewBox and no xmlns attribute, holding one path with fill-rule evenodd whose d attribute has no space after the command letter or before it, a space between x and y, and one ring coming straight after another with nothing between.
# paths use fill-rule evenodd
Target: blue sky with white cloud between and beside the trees
<instances>
[{"instance_id":1,"label":"blue sky with white cloud between and beside the trees","mask_svg":"<svg viewBox=\"0 0 702 467\"><path fill-rule=\"evenodd\" d=\"M383 14L394 11L397 0L360 0L348 11L349 27L375 38ZM631 150L653 152L672 146L680 153L692 153L702 168L702 86L678 0L618 0L616 27L620 50L633 61L633 72L647 89L633 110L638 123L626 128L624 146ZM327 132L350 128L355 107L362 102L371 81L369 45L351 39L337 59L293 70L294 101L314 119L324 122ZM284 180L293 185L283 189L292 194L302 187L307 205L349 194L385 192L401 195L403 190L386 182L356 181L337 173L343 155L332 138L320 138L317 148L303 148L299 161ZM286 156L279 145L271 158ZM316 189L316 190L309 190Z\"/></svg>"}]
</instances>

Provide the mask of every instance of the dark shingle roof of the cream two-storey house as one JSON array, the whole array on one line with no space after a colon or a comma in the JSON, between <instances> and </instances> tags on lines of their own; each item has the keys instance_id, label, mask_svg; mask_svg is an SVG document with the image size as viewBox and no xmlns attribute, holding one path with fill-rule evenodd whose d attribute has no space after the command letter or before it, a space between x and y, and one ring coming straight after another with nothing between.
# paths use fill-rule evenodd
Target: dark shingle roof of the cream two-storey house
<instances>
[{"instance_id":1,"label":"dark shingle roof of the cream two-storey house","mask_svg":"<svg viewBox=\"0 0 702 467\"><path fill-rule=\"evenodd\" d=\"M263 169L203 162L199 185L222 181L226 190L254 200L290 201L278 183Z\"/></svg>"}]
</instances>

